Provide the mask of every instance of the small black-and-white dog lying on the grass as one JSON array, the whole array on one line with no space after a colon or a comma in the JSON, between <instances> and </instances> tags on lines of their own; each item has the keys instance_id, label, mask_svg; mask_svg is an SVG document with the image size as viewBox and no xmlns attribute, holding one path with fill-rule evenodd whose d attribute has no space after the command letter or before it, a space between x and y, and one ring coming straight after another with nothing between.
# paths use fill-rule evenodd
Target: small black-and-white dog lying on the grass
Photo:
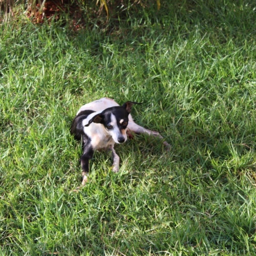
<instances>
[{"instance_id":1,"label":"small black-and-white dog lying on the grass","mask_svg":"<svg viewBox=\"0 0 256 256\"><path fill-rule=\"evenodd\" d=\"M131 108L137 102L128 101L119 106L114 100L102 98L82 106L70 128L70 132L78 141L82 140L83 154L80 158L82 167L82 186L85 186L89 174L89 160L95 150L110 149L112 151L112 171L119 171L120 158L114 144L127 141L127 132L147 133L163 139L157 131L151 131L137 125L131 115ZM163 144L170 149L170 145Z\"/></svg>"}]
</instances>

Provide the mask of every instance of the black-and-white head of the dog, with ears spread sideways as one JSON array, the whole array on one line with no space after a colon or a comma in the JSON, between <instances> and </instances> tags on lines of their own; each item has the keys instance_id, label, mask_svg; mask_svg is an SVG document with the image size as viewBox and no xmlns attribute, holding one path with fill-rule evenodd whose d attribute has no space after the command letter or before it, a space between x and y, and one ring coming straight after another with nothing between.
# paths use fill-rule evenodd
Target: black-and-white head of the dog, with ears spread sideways
<instances>
[{"instance_id":1,"label":"black-and-white head of the dog, with ears spread sideways","mask_svg":"<svg viewBox=\"0 0 256 256\"><path fill-rule=\"evenodd\" d=\"M92 122L102 124L115 143L124 143L127 141L128 115L133 104L139 103L128 101L122 107L106 108L101 113L93 116L85 126L89 126Z\"/></svg>"}]
</instances>

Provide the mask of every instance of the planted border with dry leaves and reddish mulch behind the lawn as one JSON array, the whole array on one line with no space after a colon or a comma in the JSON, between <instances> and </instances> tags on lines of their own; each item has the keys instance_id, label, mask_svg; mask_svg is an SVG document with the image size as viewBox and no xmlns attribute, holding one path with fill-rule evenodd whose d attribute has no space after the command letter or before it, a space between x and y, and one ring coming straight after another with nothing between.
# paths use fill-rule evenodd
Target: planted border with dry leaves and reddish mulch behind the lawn
<instances>
[{"instance_id":1,"label":"planted border with dry leaves and reddish mulch behind the lawn","mask_svg":"<svg viewBox=\"0 0 256 256\"><path fill-rule=\"evenodd\" d=\"M84 1L84 0L0 0L0 18L3 17L3 21L7 21L14 16L21 16L22 13L25 13L28 17L37 17L37 22L39 18L48 19L46 12L50 12L51 15L54 15L53 8L48 7L48 3L54 7L57 7L56 10L62 10L67 15L73 15L74 10L79 11L79 16L91 16L91 13L95 13L95 5L98 7L98 18L105 11L104 14L107 17L107 21L110 17L110 14L127 12L132 6L139 6L140 8L149 7L149 5L155 5L155 9L159 10L161 6L160 0L96 0L96 1ZM93 5L94 4L94 5ZM94 7L93 7L94 6ZM90 12L88 12L88 8ZM94 10L93 10L94 9ZM51 17L50 17L51 18ZM1 21L1 19L0 19Z\"/></svg>"}]
</instances>

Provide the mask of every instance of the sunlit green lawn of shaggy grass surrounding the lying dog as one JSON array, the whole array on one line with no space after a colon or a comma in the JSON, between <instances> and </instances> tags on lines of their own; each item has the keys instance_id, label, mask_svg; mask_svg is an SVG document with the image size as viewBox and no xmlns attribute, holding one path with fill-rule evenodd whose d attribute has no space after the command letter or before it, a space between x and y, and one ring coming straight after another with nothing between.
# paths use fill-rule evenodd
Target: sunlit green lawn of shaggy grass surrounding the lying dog
<instances>
[{"instance_id":1,"label":"sunlit green lawn of shaggy grass surrounding the lying dog","mask_svg":"<svg viewBox=\"0 0 256 256\"><path fill-rule=\"evenodd\" d=\"M0 255L255 255L256 5L177 1L72 32L0 25ZM121 19L121 18L120 18ZM144 102L78 193L75 113Z\"/></svg>"}]
</instances>

